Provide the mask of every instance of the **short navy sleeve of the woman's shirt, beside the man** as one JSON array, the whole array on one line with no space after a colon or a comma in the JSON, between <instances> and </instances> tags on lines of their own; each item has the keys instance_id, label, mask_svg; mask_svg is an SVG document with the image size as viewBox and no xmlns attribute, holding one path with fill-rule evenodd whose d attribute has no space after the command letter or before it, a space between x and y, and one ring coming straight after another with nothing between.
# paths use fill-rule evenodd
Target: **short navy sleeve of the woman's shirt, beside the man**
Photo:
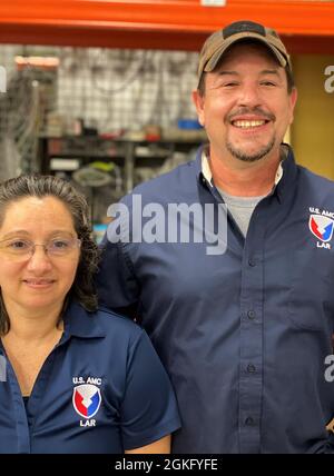
<instances>
[{"instance_id":1,"label":"short navy sleeve of the woman's shirt, beside the man","mask_svg":"<svg viewBox=\"0 0 334 476\"><path fill-rule=\"evenodd\" d=\"M134 449L180 427L177 403L169 378L147 334L129 348L121 434L125 449Z\"/></svg>"}]
</instances>

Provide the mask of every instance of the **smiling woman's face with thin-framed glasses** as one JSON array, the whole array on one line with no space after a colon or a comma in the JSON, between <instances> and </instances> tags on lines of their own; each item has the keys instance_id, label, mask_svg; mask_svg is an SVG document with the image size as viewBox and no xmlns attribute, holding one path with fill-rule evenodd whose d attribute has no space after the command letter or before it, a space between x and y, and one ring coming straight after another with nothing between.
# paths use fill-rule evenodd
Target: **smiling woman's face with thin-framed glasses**
<instances>
[{"instance_id":1,"label":"smiling woman's face with thin-framed glasses","mask_svg":"<svg viewBox=\"0 0 334 476\"><path fill-rule=\"evenodd\" d=\"M62 306L79 262L77 238L69 210L55 197L27 197L7 207L0 227L0 286L9 313Z\"/></svg>"}]
</instances>

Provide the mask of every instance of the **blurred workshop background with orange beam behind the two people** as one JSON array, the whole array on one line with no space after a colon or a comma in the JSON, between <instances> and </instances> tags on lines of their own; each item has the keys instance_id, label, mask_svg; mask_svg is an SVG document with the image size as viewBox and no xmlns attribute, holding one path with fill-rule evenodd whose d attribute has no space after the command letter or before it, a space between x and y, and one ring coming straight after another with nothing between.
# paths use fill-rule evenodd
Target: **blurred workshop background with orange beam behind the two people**
<instances>
[{"instance_id":1,"label":"blurred workshop background with orange beam behind the two people","mask_svg":"<svg viewBox=\"0 0 334 476\"><path fill-rule=\"evenodd\" d=\"M0 4L0 180L57 173L107 207L195 156L198 51L239 19L275 28L299 92L296 159L334 179L334 2L12 0Z\"/></svg>"}]
</instances>

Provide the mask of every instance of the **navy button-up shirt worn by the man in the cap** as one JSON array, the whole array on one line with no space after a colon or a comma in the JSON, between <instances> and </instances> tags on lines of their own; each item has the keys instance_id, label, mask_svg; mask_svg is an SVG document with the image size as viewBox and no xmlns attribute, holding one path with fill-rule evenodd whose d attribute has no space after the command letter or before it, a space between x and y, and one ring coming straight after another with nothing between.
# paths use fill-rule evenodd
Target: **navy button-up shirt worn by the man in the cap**
<instances>
[{"instance_id":1,"label":"navy button-up shirt worn by the man in the cap","mask_svg":"<svg viewBox=\"0 0 334 476\"><path fill-rule=\"evenodd\" d=\"M134 194L166 212L175 202L218 206L200 158L202 150ZM138 221L132 195L122 202ZM151 218L141 219L145 226ZM297 166L289 150L246 238L227 215L220 255L209 256L205 242L105 239L100 303L137 317L171 377L183 419L175 453L333 452L325 429L334 417L334 381L325 378L333 219L333 182Z\"/></svg>"}]
</instances>

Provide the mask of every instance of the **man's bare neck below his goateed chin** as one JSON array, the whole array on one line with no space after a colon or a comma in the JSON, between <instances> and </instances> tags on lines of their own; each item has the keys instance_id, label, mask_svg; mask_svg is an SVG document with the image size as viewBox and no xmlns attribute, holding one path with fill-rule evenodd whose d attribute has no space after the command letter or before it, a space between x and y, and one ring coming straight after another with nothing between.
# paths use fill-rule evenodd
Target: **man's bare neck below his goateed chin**
<instances>
[{"instance_id":1,"label":"man's bare neck below his goateed chin","mask_svg":"<svg viewBox=\"0 0 334 476\"><path fill-rule=\"evenodd\" d=\"M261 159L256 162L234 160L228 163L219 158L209 157L208 163L216 187L235 197L259 197L269 194L282 153Z\"/></svg>"}]
</instances>

